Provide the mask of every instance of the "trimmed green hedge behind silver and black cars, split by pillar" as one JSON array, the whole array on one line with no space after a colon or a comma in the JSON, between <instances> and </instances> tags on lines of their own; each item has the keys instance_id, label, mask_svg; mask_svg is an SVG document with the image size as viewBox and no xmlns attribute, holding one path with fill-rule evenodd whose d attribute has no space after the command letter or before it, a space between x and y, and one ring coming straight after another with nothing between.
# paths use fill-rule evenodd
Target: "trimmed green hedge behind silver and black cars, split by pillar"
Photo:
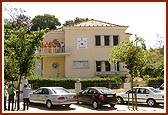
<instances>
[{"instance_id":1,"label":"trimmed green hedge behind silver and black cars, split by pillar","mask_svg":"<svg viewBox=\"0 0 168 115\"><path fill-rule=\"evenodd\" d=\"M29 84L32 85L32 89L37 89L39 87L44 86L56 86L56 87L64 87L66 89L75 89L75 83L77 78L62 78L62 79L49 79L49 78L33 78L28 79ZM112 77L112 78L87 78L80 79L82 83L82 89L86 87L93 86L104 86L112 89L120 88L122 84L122 79L120 77Z\"/></svg>"}]
</instances>

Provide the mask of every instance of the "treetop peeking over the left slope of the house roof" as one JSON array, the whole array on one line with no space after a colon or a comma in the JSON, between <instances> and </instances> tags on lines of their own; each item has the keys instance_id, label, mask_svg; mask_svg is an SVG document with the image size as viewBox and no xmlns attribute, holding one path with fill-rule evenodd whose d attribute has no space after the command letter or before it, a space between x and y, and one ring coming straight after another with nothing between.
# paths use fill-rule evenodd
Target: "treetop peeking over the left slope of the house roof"
<instances>
[{"instance_id":1,"label":"treetop peeking over the left slope of the house roof","mask_svg":"<svg viewBox=\"0 0 168 115\"><path fill-rule=\"evenodd\" d=\"M74 20L66 21L63 25L64 26L73 25L73 24L77 24L77 23L80 23L86 20L88 20L88 18L85 19L85 18L76 17Z\"/></svg>"}]
</instances>

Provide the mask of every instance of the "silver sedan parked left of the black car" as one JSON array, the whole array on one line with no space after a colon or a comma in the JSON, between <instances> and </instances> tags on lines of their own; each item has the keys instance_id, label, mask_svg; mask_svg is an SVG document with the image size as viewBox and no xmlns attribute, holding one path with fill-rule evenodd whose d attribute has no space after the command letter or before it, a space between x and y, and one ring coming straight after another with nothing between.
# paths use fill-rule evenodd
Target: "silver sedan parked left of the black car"
<instances>
[{"instance_id":1,"label":"silver sedan parked left of the black car","mask_svg":"<svg viewBox=\"0 0 168 115\"><path fill-rule=\"evenodd\" d=\"M46 104L47 108L51 108L53 105L69 107L71 104L77 103L77 95L63 87L40 87L30 94L30 103Z\"/></svg>"}]
</instances>

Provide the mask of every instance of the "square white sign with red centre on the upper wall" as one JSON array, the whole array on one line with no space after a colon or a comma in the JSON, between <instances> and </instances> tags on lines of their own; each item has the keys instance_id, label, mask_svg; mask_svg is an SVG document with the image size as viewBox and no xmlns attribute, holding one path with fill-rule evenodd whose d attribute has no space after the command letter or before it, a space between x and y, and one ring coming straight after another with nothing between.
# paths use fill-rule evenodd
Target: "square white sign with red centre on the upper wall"
<instances>
[{"instance_id":1,"label":"square white sign with red centre on the upper wall","mask_svg":"<svg viewBox=\"0 0 168 115\"><path fill-rule=\"evenodd\" d=\"M87 48L87 38L77 38L77 48Z\"/></svg>"}]
</instances>

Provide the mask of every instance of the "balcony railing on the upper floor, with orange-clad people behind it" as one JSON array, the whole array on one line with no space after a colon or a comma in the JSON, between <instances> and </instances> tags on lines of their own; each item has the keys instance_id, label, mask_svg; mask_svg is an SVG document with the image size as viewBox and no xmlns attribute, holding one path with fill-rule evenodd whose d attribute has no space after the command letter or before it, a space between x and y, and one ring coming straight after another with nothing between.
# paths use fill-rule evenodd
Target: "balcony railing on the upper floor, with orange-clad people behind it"
<instances>
[{"instance_id":1,"label":"balcony railing on the upper floor, with orange-clad people behind it","mask_svg":"<svg viewBox=\"0 0 168 115\"><path fill-rule=\"evenodd\" d=\"M36 53L65 53L64 47L38 48Z\"/></svg>"}]
</instances>

